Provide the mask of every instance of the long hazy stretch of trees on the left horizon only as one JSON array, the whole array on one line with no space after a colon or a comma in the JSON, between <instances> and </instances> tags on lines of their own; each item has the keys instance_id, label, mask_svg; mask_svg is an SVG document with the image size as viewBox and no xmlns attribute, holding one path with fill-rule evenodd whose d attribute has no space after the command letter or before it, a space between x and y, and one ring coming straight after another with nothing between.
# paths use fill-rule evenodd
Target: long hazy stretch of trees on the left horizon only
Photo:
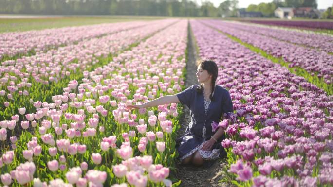
<instances>
[{"instance_id":1,"label":"long hazy stretch of trees on the left horizon only","mask_svg":"<svg viewBox=\"0 0 333 187\"><path fill-rule=\"evenodd\" d=\"M211 2L191 0L0 0L2 14L217 17Z\"/></svg>"}]
</instances>

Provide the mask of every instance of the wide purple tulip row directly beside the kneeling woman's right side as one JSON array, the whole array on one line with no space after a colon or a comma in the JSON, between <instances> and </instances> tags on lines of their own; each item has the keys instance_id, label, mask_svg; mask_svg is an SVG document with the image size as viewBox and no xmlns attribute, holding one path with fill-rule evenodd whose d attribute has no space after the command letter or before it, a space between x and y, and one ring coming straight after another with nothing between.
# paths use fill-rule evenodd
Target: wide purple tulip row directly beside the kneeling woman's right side
<instances>
[{"instance_id":1,"label":"wide purple tulip row directly beside the kneeling woman's right side","mask_svg":"<svg viewBox=\"0 0 333 187\"><path fill-rule=\"evenodd\" d=\"M333 97L199 21L200 57L219 66L235 113L219 123L227 176L244 187L333 186Z\"/></svg>"}]
</instances>

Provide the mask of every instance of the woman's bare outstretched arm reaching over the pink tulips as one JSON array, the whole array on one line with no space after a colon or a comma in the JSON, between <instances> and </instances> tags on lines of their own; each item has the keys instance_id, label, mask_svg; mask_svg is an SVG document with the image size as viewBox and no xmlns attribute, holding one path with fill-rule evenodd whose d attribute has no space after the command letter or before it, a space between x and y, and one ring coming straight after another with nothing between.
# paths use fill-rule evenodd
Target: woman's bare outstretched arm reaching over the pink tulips
<instances>
[{"instance_id":1,"label":"woman's bare outstretched arm reaching over the pink tulips","mask_svg":"<svg viewBox=\"0 0 333 187\"><path fill-rule=\"evenodd\" d=\"M153 107L153 106L158 106L158 105L163 105L163 104L170 104L170 103L178 103L178 102L179 102L179 99L176 96L176 94L174 94L174 95L162 96L162 97L156 98L152 101L145 102L143 104L129 105L129 106L127 106L127 108L128 109L148 108L148 107Z\"/></svg>"}]
</instances>

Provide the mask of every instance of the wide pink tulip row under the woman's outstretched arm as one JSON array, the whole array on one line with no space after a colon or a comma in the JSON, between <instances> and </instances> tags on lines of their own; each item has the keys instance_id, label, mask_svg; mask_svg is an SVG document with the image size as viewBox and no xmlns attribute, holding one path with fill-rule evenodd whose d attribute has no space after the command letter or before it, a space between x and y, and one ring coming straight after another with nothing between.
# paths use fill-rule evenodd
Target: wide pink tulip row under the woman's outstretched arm
<instances>
[{"instance_id":1,"label":"wide pink tulip row under the woman's outstretched arm","mask_svg":"<svg viewBox=\"0 0 333 187\"><path fill-rule=\"evenodd\" d=\"M128 111L126 105L181 90L186 36L187 21L179 21L103 68L84 71L82 83L70 81L52 102L34 101L36 112L21 107L1 121L0 139L18 125L34 130L10 137L13 150L0 157L2 184L171 186L180 108Z\"/></svg>"}]
</instances>

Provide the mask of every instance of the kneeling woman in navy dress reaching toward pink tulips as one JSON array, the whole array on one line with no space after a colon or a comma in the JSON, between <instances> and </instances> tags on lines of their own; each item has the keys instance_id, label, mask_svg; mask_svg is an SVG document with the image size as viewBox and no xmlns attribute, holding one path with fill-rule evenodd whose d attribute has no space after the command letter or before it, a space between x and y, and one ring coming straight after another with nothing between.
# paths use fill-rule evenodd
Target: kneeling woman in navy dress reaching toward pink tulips
<instances>
[{"instance_id":1,"label":"kneeling woman in navy dress reaching toward pink tulips","mask_svg":"<svg viewBox=\"0 0 333 187\"><path fill-rule=\"evenodd\" d=\"M190 109L191 122L184 136L177 139L177 150L182 164L201 166L206 160L216 160L226 153L221 146L224 130L212 129L212 122L221 120L222 114L233 112L229 92L215 85L218 67L210 60L199 61L196 73L200 85L192 85L175 95L167 95L131 108L147 108L181 102Z\"/></svg>"}]
</instances>

